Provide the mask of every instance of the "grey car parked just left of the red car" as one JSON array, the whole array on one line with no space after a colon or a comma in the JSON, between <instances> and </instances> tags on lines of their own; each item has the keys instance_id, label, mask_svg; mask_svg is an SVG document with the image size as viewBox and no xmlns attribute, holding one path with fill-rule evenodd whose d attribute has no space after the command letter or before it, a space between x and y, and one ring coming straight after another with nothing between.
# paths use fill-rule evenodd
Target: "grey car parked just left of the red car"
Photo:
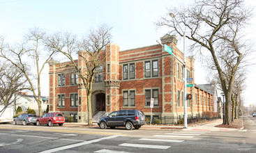
<instances>
[{"instance_id":1,"label":"grey car parked just left of the red car","mask_svg":"<svg viewBox=\"0 0 256 153\"><path fill-rule=\"evenodd\" d=\"M38 117L36 114L22 113L22 115L19 115L17 118L13 119L13 124L36 124L37 118Z\"/></svg>"}]
</instances>

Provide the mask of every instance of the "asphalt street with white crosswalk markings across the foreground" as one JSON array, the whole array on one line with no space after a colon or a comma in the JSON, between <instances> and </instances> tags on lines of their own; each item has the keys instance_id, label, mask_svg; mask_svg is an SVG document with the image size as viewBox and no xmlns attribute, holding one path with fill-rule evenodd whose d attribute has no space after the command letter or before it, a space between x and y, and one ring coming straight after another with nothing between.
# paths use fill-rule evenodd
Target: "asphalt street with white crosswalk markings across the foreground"
<instances>
[{"instance_id":1,"label":"asphalt street with white crosswalk markings across the foreground","mask_svg":"<svg viewBox=\"0 0 256 153\"><path fill-rule=\"evenodd\" d=\"M233 131L0 124L0 152L256 152L256 118Z\"/></svg>"}]
</instances>

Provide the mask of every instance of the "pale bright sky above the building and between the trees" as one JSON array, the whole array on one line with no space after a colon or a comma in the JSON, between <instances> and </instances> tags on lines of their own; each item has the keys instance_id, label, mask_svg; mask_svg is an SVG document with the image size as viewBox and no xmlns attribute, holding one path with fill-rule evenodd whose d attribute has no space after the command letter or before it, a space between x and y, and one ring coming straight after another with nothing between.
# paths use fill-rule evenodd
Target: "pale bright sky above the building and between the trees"
<instances>
[{"instance_id":1,"label":"pale bright sky above the building and between the trees","mask_svg":"<svg viewBox=\"0 0 256 153\"><path fill-rule=\"evenodd\" d=\"M7 42L18 42L29 29L39 27L48 33L68 31L76 35L85 35L98 24L112 26L112 42L120 50L156 45L166 29L157 29L160 16L167 8L187 6L189 0L0 0L0 35ZM246 4L255 7L256 1L246 0ZM255 10L256 11L256 10ZM256 15L256 13L255 13ZM256 19L252 19L246 35L255 40ZM178 38L179 39L179 38ZM186 43L189 40L186 40ZM177 44L183 50L180 40ZM186 53L187 56L191 54ZM253 55L256 58L256 55ZM208 83L206 70L201 62L195 61L195 83ZM48 67L43 73L43 96L49 95ZM243 99L246 106L256 105L253 97L256 86L256 66L248 67L246 89ZM219 97L220 94L218 95Z\"/></svg>"}]
</instances>

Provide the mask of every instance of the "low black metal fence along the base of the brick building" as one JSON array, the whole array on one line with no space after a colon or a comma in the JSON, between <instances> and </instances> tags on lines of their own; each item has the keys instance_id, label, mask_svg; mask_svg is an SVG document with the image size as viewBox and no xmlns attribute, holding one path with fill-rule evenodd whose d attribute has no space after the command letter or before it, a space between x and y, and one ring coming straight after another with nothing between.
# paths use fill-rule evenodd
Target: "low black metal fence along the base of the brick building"
<instances>
[{"instance_id":1,"label":"low black metal fence along the base of the brick building","mask_svg":"<svg viewBox=\"0 0 256 153\"><path fill-rule=\"evenodd\" d=\"M209 118L209 117L188 117L188 124L192 123L192 122L199 122L201 120L216 120L220 117L213 117L213 118ZM152 117L152 124L183 124L183 120L184 118L182 117ZM150 117L147 118L146 117L146 122L149 123L150 122Z\"/></svg>"}]
</instances>

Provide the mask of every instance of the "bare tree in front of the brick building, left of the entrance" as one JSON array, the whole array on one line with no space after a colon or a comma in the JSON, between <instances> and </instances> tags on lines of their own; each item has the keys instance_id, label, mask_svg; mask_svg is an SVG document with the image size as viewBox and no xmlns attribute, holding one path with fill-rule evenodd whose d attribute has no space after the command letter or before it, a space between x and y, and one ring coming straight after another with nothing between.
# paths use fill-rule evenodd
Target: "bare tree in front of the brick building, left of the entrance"
<instances>
[{"instance_id":1,"label":"bare tree in front of the brick building, left of the entrance","mask_svg":"<svg viewBox=\"0 0 256 153\"><path fill-rule=\"evenodd\" d=\"M87 107L88 107L88 124L92 125L91 114L91 92L93 79L96 69L101 67L105 61L104 49L111 41L111 28L105 24L100 25L98 29L91 29L89 34L82 39L77 40L75 35L70 33L55 33L48 38L48 47L64 54L75 67L78 77L82 79L82 85L86 89ZM86 68L80 71L78 63L75 59L78 56L82 59L81 63L85 63ZM67 65L71 66L71 65Z\"/></svg>"}]
</instances>

